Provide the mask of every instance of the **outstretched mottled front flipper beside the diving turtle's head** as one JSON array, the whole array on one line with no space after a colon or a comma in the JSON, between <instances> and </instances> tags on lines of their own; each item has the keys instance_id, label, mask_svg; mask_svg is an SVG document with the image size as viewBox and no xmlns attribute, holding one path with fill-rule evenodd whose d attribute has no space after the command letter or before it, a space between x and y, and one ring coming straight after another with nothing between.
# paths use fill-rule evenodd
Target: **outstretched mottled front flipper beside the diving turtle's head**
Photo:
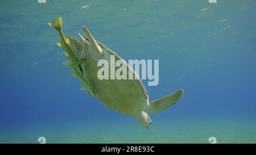
<instances>
[{"instance_id":1,"label":"outstretched mottled front flipper beside the diving turtle's head","mask_svg":"<svg viewBox=\"0 0 256 155\"><path fill-rule=\"evenodd\" d=\"M156 113L156 112L161 112L165 110L166 108L172 106L179 100L183 95L183 90L177 90L175 91L174 94L167 95L166 97L160 98L153 100L150 102L150 104L146 108L146 112L148 114Z\"/></svg>"}]
</instances>

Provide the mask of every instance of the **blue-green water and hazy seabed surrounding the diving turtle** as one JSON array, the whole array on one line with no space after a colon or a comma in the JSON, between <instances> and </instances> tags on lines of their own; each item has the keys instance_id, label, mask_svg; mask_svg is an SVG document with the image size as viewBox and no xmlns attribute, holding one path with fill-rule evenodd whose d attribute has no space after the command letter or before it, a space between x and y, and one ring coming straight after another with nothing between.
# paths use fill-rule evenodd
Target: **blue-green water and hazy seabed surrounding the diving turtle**
<instances>
[{"instance_id":1,"label":"blue-green water and hazy seabed surrounding the diving turtle","mask_svg":"<svg viewBox=\"0 0 256 155\"><path fill-rule=\"evenodd\" d=\"M58 33L84 24L126 61L159 60L149 129L80 91ZM0 143L256 143L256 1L1 1ZM124 88L125 89L125 88Z\"/></svg>"}]
</instances>

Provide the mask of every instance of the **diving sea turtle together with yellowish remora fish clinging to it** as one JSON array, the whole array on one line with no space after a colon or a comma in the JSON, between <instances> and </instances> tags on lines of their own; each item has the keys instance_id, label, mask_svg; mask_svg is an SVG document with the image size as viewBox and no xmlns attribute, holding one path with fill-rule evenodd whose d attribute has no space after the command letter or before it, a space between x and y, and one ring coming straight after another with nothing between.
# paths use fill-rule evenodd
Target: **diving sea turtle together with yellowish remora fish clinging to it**
<instances>
[{"instance_id":1,"label":"diving sea turtle together with yellowish remora fish clinging to it","mask_svg":"<svg viewBox=\"0 0 256 155\"><path fill-rule=\"evenodd\" d=\"M71 68L73 76L82 82L81 90L87 90L110 109L132 116L143 127L148 128L151 124L148 114L165 110L183 95L183 90L177 90L174 94L149 102L141 79L126 63L123 65L138 79L99 79L97 72L100 66L97 62L102 59L110 61L110 56L115 56L116 61L121 60L121 57L95 40L84 26L82 31L85 37L78 33L79 43L76 39L64 35L61 30L61 16L48 24L59 32L60 42L57 44L64 49L69 59L64 65Z\"/></svg>"}]
</instances>

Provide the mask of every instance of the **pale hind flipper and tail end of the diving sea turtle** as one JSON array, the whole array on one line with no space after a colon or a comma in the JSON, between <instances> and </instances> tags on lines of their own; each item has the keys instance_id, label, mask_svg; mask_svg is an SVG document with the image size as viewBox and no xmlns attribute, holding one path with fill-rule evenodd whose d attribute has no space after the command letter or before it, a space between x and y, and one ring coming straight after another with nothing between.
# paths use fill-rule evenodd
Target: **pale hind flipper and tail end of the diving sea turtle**
<instances>
[{"instance_id":1,"label":"pale hind flipper and tail end of the diving sea turtle","mask_svg":"<svg viewBox=\"0 0 256 155\"><path fill-rule=\"evenodd\" d=\"M86 55L88 55L89 57L100 58L103 54L102 48L100 47L100 45L98 45L97 41L90 34L85 26L82 26L82 31L84 31L85 37L82 37L80 33L78 34L81 40L82 48L85 50Z\"/></svg>"}]
</instances>

